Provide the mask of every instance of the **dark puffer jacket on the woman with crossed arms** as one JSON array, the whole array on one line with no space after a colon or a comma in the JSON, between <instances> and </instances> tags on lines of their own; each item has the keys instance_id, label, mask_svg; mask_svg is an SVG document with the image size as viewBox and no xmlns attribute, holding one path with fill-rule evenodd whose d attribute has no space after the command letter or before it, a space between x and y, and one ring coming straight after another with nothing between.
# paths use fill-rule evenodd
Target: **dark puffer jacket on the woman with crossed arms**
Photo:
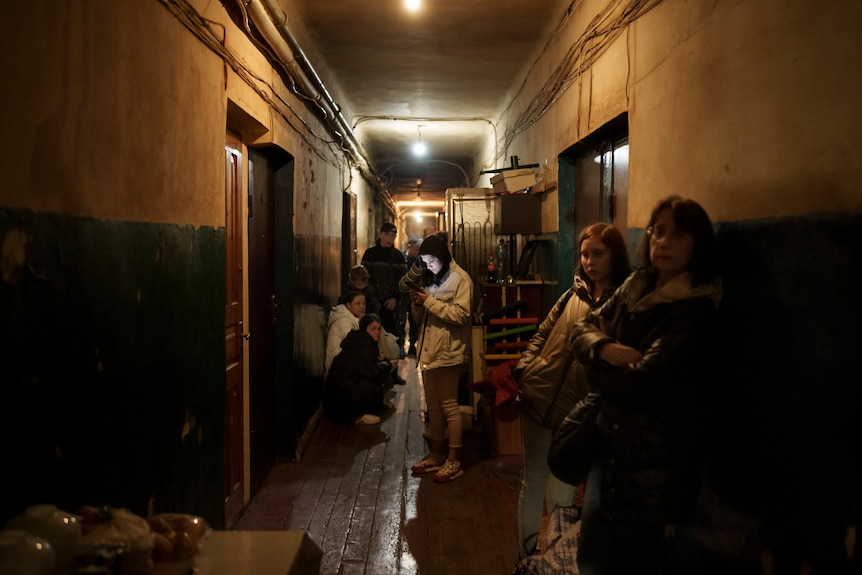
<instances>
[{"instance_id":1,"label":"dark puffer jacket on the woman with crossed arms","mask_svg":"<svg viewBox=\"0 0 862 575\"><path fill-rule=\"evenodd\" d=\"M721 281L691 286L679 276L659 290L632 274L588 318L572 343L587 381L602 393L599 413L601 506L620 519L675 523L688 517L699 484L697 400L714 370ZM596 328L597 316L608 334ZM643 354L613 367L599 348L617 341Z\"/></svg>"}]
</instances>

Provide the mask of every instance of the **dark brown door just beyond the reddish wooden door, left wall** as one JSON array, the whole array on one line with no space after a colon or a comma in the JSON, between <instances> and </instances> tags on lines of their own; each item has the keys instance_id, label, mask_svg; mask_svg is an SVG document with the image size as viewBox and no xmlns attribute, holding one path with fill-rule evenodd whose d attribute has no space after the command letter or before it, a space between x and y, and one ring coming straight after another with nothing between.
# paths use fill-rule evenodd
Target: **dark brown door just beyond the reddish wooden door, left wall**
<instances>
[{"instance_id":1,"label":"dark brown door just beyond the reddish wooden door, left wall","mask_svg":"<svg viewBox=\"0 0 862 575\"><path fill-rule=\"evenodd\" d=\"M275 168L265 151L248 151L248 395L251 494L276 458Z\"/></svg>"}]
</instances>

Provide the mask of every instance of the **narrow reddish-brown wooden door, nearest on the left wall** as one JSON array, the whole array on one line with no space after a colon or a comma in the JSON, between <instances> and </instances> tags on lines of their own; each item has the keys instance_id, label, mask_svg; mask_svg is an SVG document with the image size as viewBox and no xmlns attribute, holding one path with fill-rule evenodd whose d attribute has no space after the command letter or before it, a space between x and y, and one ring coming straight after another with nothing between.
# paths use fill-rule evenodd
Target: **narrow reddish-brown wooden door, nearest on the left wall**
<instances>
[{"instance_id":1,"label":"narrow reddish-brown wooden door, nearest on the left wall","mask_svg":"<svg viewBox=\"0 0 862 575\"><path fill-rule=\"evenodd\" d=\"M242 309L242 152L239 139L225 144L225 524L233 526L243 509L243 309Z\"/></svg>"}]
</instances>

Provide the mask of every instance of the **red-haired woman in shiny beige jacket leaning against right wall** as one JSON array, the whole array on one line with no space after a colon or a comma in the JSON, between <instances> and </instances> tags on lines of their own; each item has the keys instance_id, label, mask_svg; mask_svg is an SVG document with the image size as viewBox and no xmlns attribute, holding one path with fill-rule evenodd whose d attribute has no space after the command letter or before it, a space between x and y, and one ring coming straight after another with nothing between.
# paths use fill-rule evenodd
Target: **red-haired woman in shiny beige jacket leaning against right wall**
<instances>
[{"instance_id":1,"label":"red-haired woman in shiny beige jacket leaning against right wall","mask_svg":"<svg viewBox=\"0 0 862 575\"><path fill-rule=\"evenodd\" d=\"M574 485L554 477L548 468L553 431L589 391L569 347L575 322L601 305L631 272L620 231L596 223L581 232L580 265L574 283L560 296L512 370L520 389L516 405L521 418L521 489L518 495L519 556L536 552L543 503L548 514L574 504Z\"/></svg>"}]
</instances>

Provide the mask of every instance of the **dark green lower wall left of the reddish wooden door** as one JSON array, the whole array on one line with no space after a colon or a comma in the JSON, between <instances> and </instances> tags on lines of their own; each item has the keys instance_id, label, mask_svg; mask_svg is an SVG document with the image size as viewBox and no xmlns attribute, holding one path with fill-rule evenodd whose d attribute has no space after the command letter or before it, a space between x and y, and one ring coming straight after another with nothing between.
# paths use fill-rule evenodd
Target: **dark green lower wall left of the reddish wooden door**
<instances>
[{"instance_id":1,"label":"dark green lower wall left of the reddish wooden door","mask_svg":"<svg viewBox=\"0 0 862 575\"><path fill-rule=\"evenodd\" d=\"M0 239L26 257L0 282L0 515L152 500L222 524L224 229L3 209Z\"/></svg>"}]
</instances>

